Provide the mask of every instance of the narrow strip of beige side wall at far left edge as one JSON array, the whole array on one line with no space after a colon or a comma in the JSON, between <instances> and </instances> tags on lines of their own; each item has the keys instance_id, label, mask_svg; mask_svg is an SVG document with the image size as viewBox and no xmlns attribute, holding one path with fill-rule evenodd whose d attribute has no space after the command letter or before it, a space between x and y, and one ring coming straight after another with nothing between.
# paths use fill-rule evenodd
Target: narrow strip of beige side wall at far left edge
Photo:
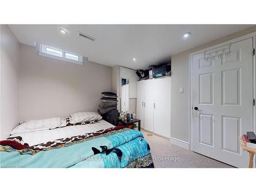
<instances>
[{"instance_id":1,"label":"narrow strip of beige side wall at far left edge","mask_svg":"<svg viewBox=\"0 0 256 192\"><path fill-rule=\"evenodd\" d=\"M0 25L0 28L2 140L18 124L19 43L7 25Z\"/></svg>"}]
</instances>

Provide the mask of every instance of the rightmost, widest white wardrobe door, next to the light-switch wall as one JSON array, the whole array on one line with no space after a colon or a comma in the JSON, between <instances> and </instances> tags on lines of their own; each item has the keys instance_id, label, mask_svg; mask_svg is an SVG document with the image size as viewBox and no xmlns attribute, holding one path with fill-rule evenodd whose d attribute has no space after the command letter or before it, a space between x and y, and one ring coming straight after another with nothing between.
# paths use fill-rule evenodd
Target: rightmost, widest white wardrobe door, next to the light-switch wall
<instances>
[{"instance_id":1,"label":"rightmost, widest white wardrobe door, next to the light-switch wall","mask_svg":"<svg viewBox=\"0 0 256 192\"><path fill-rule=\"evenodd\" d=\"M170 77L154 79L154 133L170 137Z\"/></svg>"}]
</instances>

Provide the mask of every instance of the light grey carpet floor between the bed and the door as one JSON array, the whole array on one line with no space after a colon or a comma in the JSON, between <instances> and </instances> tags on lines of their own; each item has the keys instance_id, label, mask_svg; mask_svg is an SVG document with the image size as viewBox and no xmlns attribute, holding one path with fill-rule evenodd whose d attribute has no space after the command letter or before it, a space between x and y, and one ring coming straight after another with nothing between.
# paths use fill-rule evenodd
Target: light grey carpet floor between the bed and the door
<instances>
[{"instance_id":1,"label":"light grey carpet floor between the bed and the door","mask_svg":"<svg viewBox=\"0 0 256 192\"><path fill-rule=\"evenodd\" d=\"M141 130L150 144L156 168L230 168L232 166L170 144L168 139Z\"/></svg>"}]
</instances>

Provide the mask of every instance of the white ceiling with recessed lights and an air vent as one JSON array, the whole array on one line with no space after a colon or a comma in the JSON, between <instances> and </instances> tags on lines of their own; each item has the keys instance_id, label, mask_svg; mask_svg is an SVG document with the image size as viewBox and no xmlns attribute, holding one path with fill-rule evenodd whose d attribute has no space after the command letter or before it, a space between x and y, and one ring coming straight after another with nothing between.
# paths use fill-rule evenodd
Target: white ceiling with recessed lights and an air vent
<instances>
[{"instance_id":1,"label":"white ceiling with recessed lights and an air vent","mask_svg":"<svg viewBox=\"0 0 256 192\"><path fill-rule=\"evenodd\" d=\"M174 54L252 25L9 25L20 44L42 43L107 66L147 69ZM68 31L61 34L58 28ZM96 38L86 40L77 32ZM191 33L187 39L184 33ZM134 61L133 58L136 58Z\"/></svg>"}]
</instances>

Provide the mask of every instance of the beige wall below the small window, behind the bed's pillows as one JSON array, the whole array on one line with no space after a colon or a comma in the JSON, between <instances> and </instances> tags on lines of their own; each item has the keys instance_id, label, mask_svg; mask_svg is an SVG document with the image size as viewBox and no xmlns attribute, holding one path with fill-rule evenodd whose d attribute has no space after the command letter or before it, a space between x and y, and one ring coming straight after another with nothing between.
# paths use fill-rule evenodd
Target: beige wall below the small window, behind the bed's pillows
<instances>
[{"instance_id":1,"label":"beige wall below the small window, behind the bed's pillows","mask_svg":"<svg viewBox=\"0 0 256 192\"><path fill-rule=\"evenodd\" d=\"M111 90L111 67L90 61L80 66L37 52L20 45L19 120L97 111L100 93Z\"/></svg>"}]
</instances>

